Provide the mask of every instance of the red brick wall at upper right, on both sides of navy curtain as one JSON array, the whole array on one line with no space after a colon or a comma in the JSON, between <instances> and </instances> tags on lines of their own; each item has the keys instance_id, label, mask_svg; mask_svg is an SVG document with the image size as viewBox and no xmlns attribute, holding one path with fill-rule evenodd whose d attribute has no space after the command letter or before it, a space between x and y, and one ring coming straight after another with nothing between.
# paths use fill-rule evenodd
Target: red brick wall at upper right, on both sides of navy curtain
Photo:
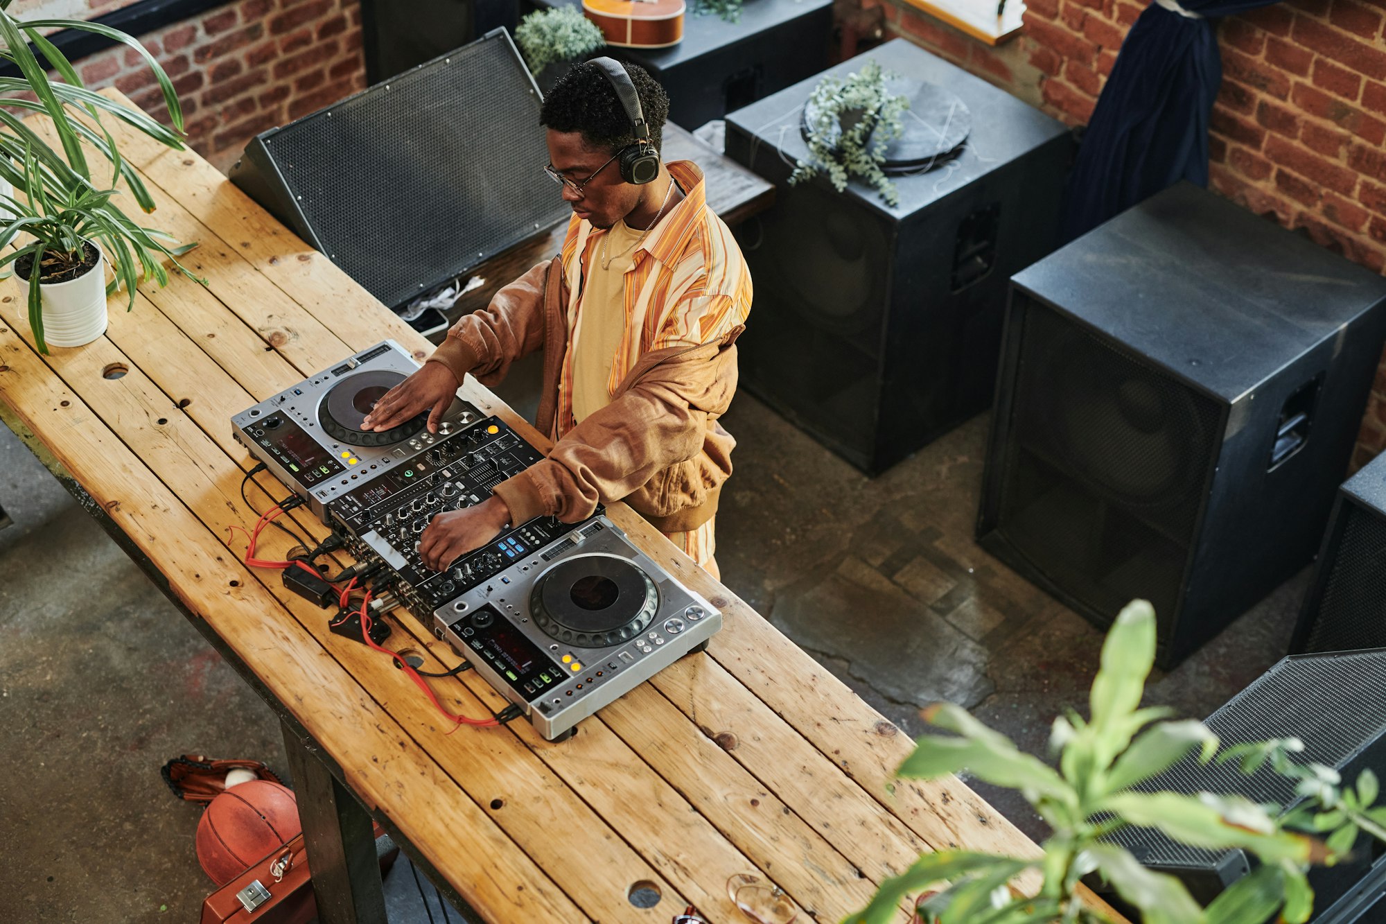
<instances>
[{"instance_id":1,"label":"red brick wall at upper right, on both sides of navy curtain","mask_svg":"<svg viewBox=\"0 0 1386 924\"><path fill-rule=\"evenodd\" d=\"M904 0L881 7L902 35L1040 105L1087 122L1145 3L1026 0L1024 32L999 49ZM1303 229L1376 272L1386 266L1386 0L1286 0L1218 26L1222 87L1211 117L1211 187ZM1386 450L1386 358L1354 468Z\"/></svg>"}]
</instances>

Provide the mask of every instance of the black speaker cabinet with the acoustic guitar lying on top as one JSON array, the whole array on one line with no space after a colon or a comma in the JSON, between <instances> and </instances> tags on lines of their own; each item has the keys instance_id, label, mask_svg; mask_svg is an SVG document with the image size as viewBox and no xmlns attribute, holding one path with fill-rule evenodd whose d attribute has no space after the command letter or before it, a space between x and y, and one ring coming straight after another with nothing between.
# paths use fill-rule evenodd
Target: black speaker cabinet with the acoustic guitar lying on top
<instances>
[{"instance_id":1,"label":"black speaker cabinet with the acoustic guitar lying on top","mask_svg":"<svg viewBox=\"0 0 1386 924\"><path fill-rule=\"evenodd\" d=\"M582 8L582 0L532 1ZM690 132L827 67L833 0L746 0L739 22L689 7L678 44L604 53L649 71L669 93L669 121Z\"/></svg>"}]
</instances>

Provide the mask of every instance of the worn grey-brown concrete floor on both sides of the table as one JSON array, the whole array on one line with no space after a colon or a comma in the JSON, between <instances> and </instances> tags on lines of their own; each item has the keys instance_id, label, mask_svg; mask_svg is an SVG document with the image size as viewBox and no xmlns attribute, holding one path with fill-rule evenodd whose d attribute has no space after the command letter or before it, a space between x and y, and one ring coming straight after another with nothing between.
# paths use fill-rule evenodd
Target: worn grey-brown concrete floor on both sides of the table
<instances>
[{"instance_id":1,"label":"worn grey-brown concrete floor on both sides of the table","mask_svg":"<svg viewBox=\"0 0 1386 924\"><path fill-rule=\"evenodd\" d=\"M534 404L534 375L503 388ZM1042 752L1082 706L1102 635L970 540L985 418L862 477L748 395L726 419L737 473L718 519L725 583L906 731L963 703ZM269 709L28 450L0 427L0 921L195 921L211 889L200 810L159 767L180 753L284 769ZM1204 716L1285 653L1306 574L1149 701ZM979 787L1033 837L1010 794ZM403 863L392 921L421 921ZM441 918L439 918L441 920Z\"/></svg>"}]
</instances>

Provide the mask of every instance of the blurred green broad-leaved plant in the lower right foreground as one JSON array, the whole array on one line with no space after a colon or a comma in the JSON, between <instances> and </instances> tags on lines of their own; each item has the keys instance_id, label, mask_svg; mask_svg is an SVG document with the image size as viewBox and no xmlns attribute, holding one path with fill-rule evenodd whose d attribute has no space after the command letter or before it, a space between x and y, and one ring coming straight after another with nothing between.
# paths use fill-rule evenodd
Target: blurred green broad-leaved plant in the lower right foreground
<instances>
[{"instance_id":1,"label":"blurred green broad-leaved plant in the lower right foreground","mask_svg":"<svg viewBox=\"0 0 1386 924\"><path fill-rule=\"evenodd\" d=\"M1322 844L1285 830L1271 809L1240 796L1132 789L1191 752L1207 762L1218 748L1217 737L1202 723L1174 721L1167 709L1141 708L1155 641L1155 610L1148 602L1135 601L1121 610L1102 647L1089 694L1091 717L1069 713L1053 721L1049 744L1059 756L1058 770L1020 752L959 706L941 703L926 710L929 724L947 734L919 738L900 767L901 777L930 780L966 770L992 785L1019 789L1053 835L1037 857L926 853L884 881L870 905L847 921L883 924L906 899L920 895L927 895L918 905L920 917L940 924L1100 921L1105 918L1078 896L1080 880L1094 871L1148 924L1260 924L1277 912L1290 924L1307 920L1314 895L1306 870L1311 862L1331 859ZM1254 763L1258 755L1265 762L1285 752L1283 746L1257 746L1261 751L1238 749L1234 756ZM1375 798L1372 782L1368 792L1354 794L1358 806L1362 795ZM1344 810L1344 823L1347 817ZM1353 819L1353 824L1362 823ZM1365 816L1367 823L1380 820ZM1240 848L1260 864L1203 909L1177 878L1142 867L1128 850L1102 839L1125 825L1157 828L1211 850ZM1027 870L1042 875L1034 898L1017 896L1009 887Z\"/></svg>"}]
</instances>

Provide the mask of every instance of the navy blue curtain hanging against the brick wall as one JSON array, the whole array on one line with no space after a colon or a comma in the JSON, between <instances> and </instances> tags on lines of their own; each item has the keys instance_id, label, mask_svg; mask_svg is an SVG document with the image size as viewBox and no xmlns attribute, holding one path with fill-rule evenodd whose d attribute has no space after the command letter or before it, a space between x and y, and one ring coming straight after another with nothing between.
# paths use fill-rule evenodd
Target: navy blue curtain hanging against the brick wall
<instances>
[{"instance_id":1,"label":"navy blue curtain hanging against the brick wall","mask_svg":"<svg viewBox=\"0 0 1386 924\"><path fill-rule=\"evenodd\" d=\"M1209 182L1209 115L1222 58L1214 17L1277 0L1184 0L1191 18L1152 3L1131 26L1102 87L1069 178L1066 240L1181 179Z\"/></svg>"}]
</instances>

